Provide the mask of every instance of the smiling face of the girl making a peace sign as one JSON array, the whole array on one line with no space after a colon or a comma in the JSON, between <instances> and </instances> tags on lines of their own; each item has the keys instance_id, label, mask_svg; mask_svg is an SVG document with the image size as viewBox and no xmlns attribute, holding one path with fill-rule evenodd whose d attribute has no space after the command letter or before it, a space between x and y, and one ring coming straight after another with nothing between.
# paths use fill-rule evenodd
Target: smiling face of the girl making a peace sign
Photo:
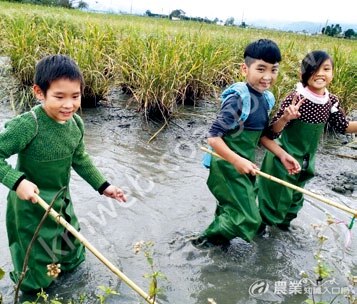
<instances>
[{"instance_id":1,"label":"smiling face of the girl making a peace sign","mask_svg":"<svg viewBox=\"0 0 357 304\"><path fill-rule=\"evenodd\" d=\"M333 66L330 59L325 60L307 81L308 88L318 95L325 93L325 88L333 79Z\"/></svg>"}]
</instances>

